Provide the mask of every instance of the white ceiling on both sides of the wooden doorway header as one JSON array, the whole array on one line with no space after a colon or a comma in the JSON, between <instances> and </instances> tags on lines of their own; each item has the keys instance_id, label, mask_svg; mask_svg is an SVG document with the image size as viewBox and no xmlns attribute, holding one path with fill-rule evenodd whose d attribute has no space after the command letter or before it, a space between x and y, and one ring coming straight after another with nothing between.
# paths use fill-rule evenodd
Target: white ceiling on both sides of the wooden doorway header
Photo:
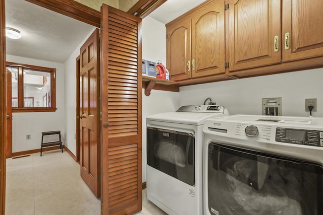
<instances>
[{"instance_id":1,"label":"white ceiling on both sides of the wooden doorway header","mask_svg":"<svg viewBox=\"0 0 323 215\"><path fill-rule=\"evenodd\" d=\"M167 24L205 0L168 0L149 16ZM5 0L6 27L21 32L6 39L7 54L64 63L93 26L25 0Z\"/></svg>"}]
</instances>

